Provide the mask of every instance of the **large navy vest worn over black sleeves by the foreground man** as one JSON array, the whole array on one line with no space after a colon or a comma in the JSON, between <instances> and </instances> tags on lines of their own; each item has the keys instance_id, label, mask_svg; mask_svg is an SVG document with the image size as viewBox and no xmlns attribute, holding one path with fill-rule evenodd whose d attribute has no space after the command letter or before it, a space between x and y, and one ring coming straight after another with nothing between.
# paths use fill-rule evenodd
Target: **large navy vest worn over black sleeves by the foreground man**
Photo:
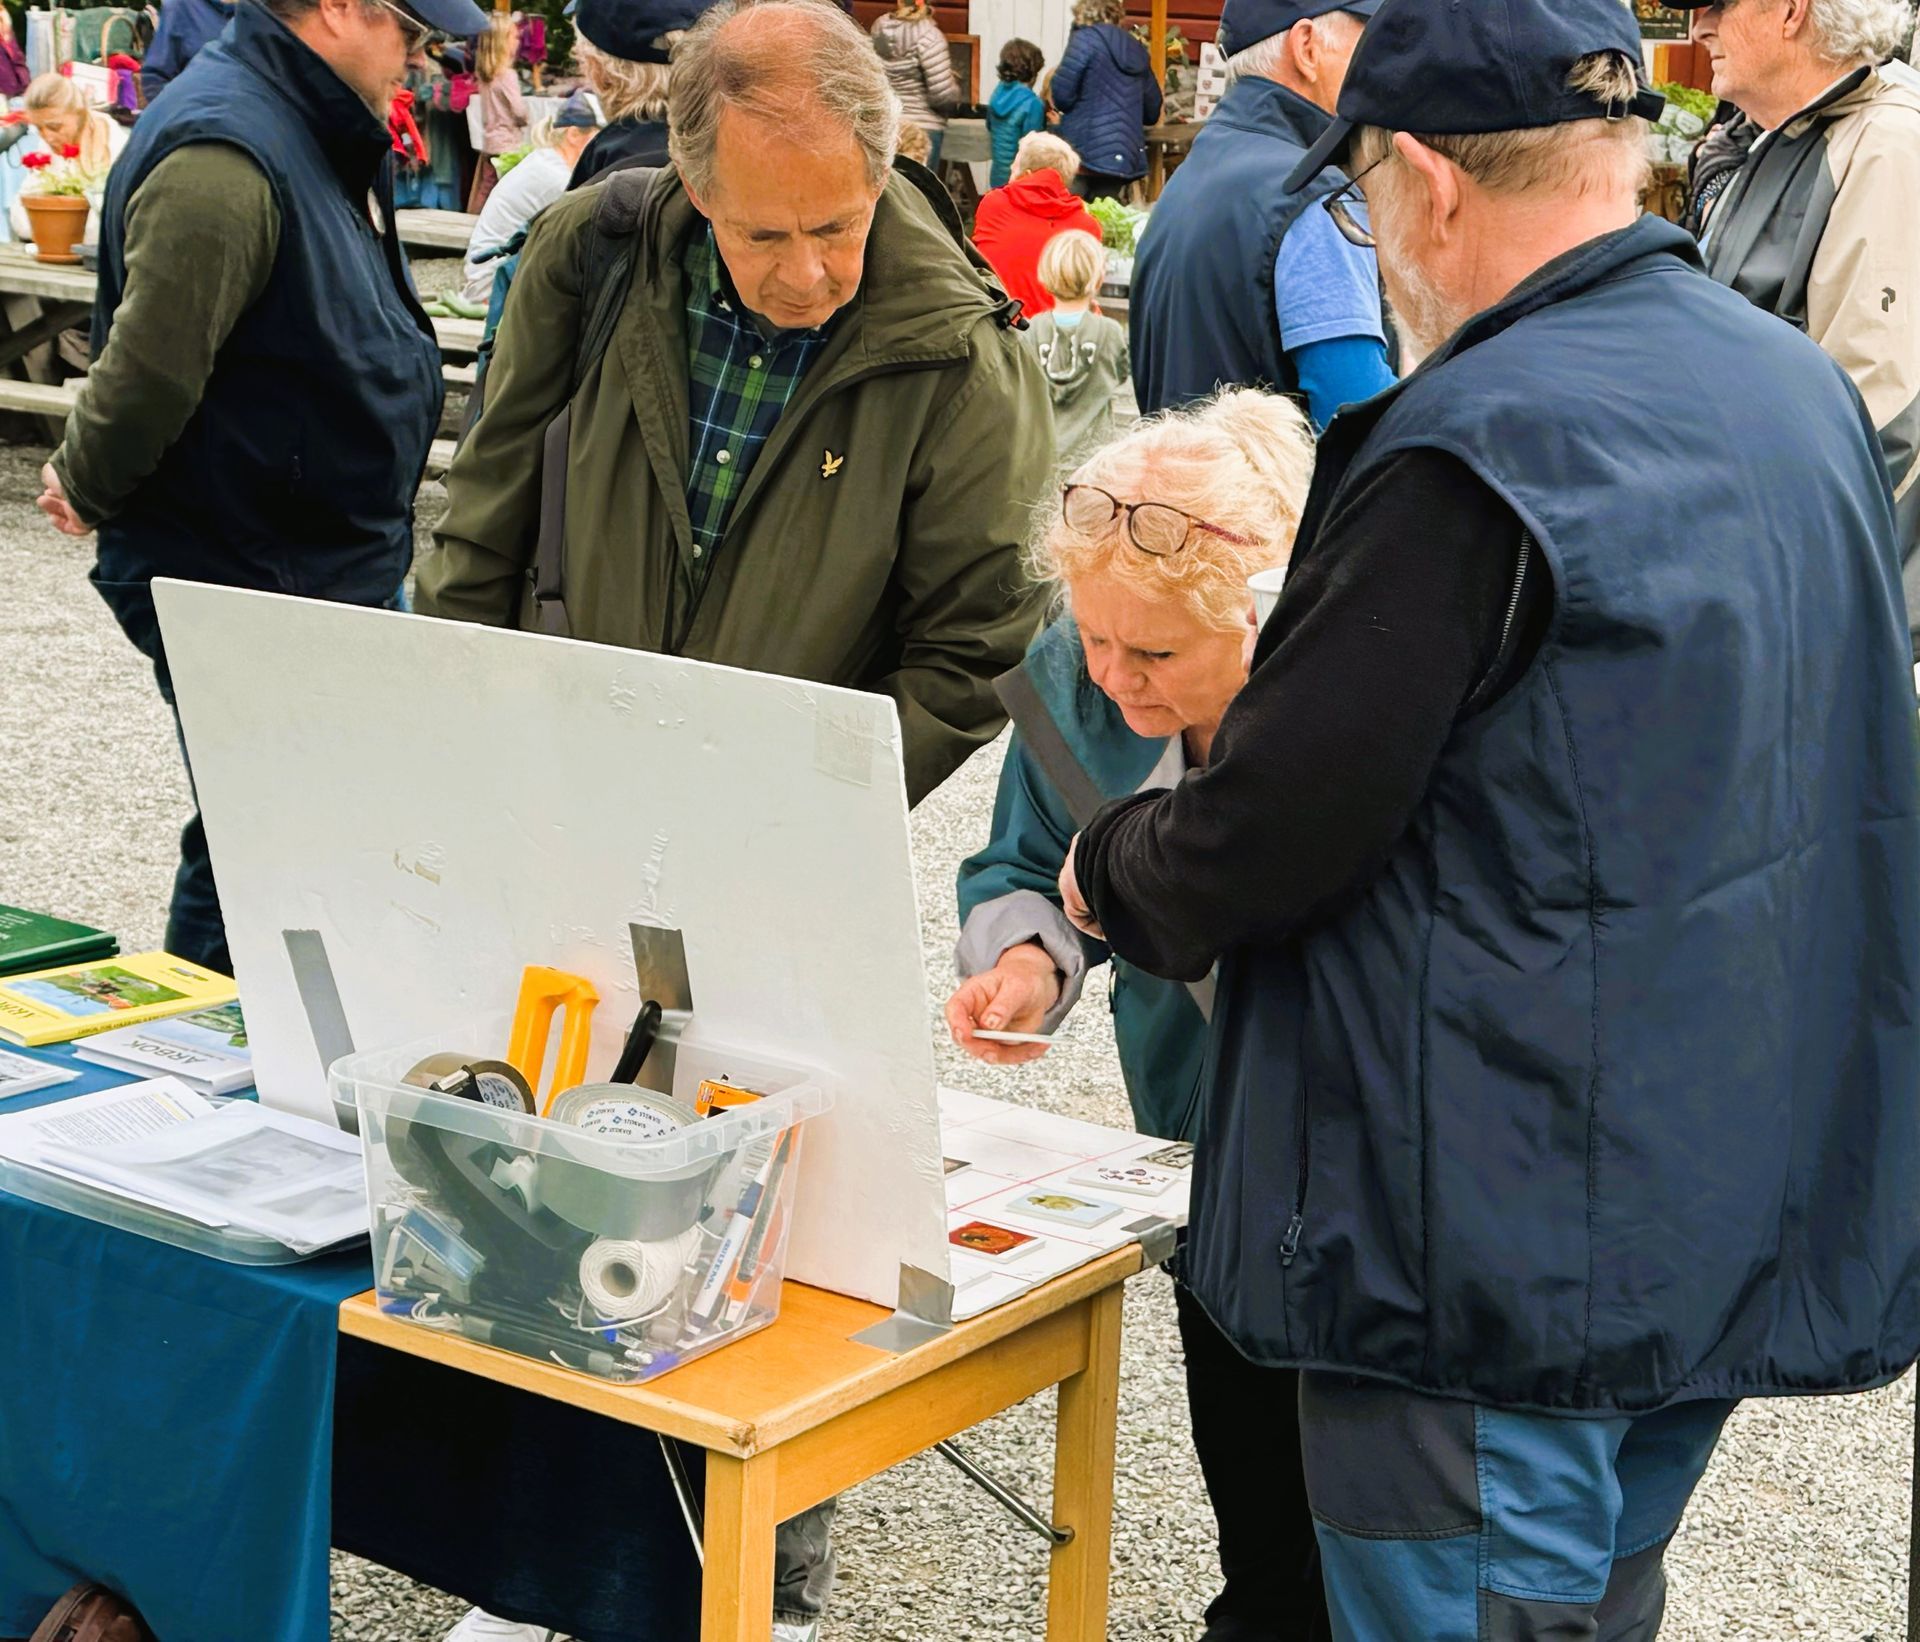
<instances>
[{"instance_id":1,"label":"large navy vest worn over black sleeves by the foreground man","mask_svg":"<svg viewBox=\"0 0 1920 1642\"><path fill-rule=\"evenodd\" d=\"M1895 1377L1920 737L1859 394L1647 217L1338 417L1296 553L1409 447L1511 501L1553 618L1379 878L1227 954L1190 1281L1258 1360L1513 1408Z\"/></svg>"}]
</instances>

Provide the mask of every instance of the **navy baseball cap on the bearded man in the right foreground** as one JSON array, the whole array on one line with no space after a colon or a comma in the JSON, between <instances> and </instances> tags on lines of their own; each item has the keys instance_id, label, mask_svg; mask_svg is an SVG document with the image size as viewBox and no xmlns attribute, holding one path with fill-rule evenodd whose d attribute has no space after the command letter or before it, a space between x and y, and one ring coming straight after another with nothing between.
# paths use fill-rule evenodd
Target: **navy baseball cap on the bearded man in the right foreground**
<instances>
[{"instance_id":1,"label":"navy baseball cap on the bearded man in the right foreground","mask_svg":"<svg viewBox=\"0 0 1920 1642\"><path fill-rule=\"evenodd\" d=\"M1471 136L1661 117L1667 100L1644 81L1624 109L1569 90L1567 75L1592 52L1620 52L1638 69L1640 23L1620 0L1384 0L1354 52L1332 125L1286 186L1338 165L1363 125Z\"/></svg>"}]
</instances>

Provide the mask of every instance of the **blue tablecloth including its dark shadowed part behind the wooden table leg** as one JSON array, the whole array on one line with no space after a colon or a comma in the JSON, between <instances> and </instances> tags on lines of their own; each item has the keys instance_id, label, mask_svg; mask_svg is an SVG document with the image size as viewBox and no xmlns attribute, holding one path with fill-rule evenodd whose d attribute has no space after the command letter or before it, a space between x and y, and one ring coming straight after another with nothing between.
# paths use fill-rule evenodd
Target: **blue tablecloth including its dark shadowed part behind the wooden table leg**
<instances>
[{"instance_id":1,"label":"blue tablecloth including its dark shadowed part behind the wooden table leg","mask_svg":"<svg viewBox=\"0 0 1920 1642\"><path fill-rule=\"evenodd\" d=\"M228 1266L0 1193L0 1636L86 1577L161 1642L326 1642L330 1542L584 1642L695 1634L655 1438L342 1339L371 1285L365 1246Z\"/></svg>"}]
</instances>

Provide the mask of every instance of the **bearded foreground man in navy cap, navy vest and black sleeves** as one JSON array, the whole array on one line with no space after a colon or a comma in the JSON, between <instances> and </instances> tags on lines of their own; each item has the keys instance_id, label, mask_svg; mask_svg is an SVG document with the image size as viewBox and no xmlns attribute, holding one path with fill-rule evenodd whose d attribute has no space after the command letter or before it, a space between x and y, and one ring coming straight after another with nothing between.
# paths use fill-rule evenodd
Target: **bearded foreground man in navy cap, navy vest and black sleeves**
<instances>
[{"instance_id":1,"label":"bearded foreground man in navy cap, navy vest and black sleeves","mask_svg":"<svg viewBox=\"0 0 1920 1642\"><path fill-rule=\"evenodd\" d=\"M1300 1369L1344 1642L1655 1636L1734 1402L1920 1352L1893 495L1640 215L1638 73L1619 0L1380 8L1294 181L1427 359L1327 430L1208 768L1062 874L1219 964L1185 1277Z\"/></svg>"}]
</instances>

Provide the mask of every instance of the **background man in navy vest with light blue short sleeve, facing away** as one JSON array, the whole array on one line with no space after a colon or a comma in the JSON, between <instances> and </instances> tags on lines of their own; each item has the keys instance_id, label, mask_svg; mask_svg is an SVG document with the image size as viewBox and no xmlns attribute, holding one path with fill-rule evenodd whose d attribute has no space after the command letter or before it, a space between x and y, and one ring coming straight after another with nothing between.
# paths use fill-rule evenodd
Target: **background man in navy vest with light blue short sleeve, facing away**
<instances>
[{"instance_id":1,"label":"background man in navy vest with light blue short sleeve, facing away","mask_svg":"<svg viewBox=\"0 0 1920 1642\"><path fill-rule=\"evenodd\" d=\"M1288 173L1327 131L1380 0L1227 0L1233 83L1167 182L1133 267L1133 386L1152 415L1221 384L1296 394L1325 426L1394 380L1373 252Z\"/></svg>"}]
</instances>

